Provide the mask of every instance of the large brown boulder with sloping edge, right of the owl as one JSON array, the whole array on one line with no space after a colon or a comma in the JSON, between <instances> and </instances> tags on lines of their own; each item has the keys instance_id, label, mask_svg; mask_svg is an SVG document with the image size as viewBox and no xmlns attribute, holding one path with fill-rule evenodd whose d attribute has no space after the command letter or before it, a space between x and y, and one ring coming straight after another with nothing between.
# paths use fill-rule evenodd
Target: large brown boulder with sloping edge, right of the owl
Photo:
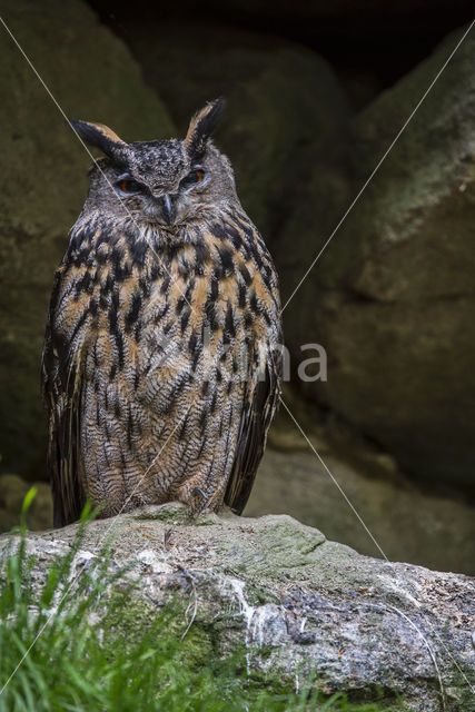
<instances>
[{"instance_id":1,"label":"large brown boulder with sloping edge, right of the owl","mask_svg":"<svg viewBox=\"0 0 475 712\"><path fill-rule=\"evenodd\" d=\"M352 200L459 37L355 119ZM294 349L303 340L327 349L328 380L306 384L309 397L395 455L403 471L471 492L474 60L468 36L285 312ZM330 212L335 228L344 210ZM293 246L313 235L298 215L283 229ZM307 265L317 253L308 249Z\"/></svg>"}]
</instances>

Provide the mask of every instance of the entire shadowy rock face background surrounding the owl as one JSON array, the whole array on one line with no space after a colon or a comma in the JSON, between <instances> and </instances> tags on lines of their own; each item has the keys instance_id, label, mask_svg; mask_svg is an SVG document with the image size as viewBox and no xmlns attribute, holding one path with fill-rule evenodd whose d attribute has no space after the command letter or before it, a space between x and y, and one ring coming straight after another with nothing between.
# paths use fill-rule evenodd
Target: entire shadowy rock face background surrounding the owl
<instances>
[{"instance_id":1,"label":"entire shadowy rock face background surrounding the owl","mask_svg":"<svg viewBox=\"0 0 475 712\"><path fill-rule=\"evenodd\" d=\"M310 4L210 2L198 13L185 0L178 17L141 0L115 3L113 14L100 0L7 0L2 17L67 116L110 123L128 140L182 132L204 101L227 96L216 142L275 256L285 303L472 17L463 0L431 9L407 0L384 11ZM467 572L474 32L284 312L294 370L301 344L320 343L328 354L326 383L301 384L294 373L293 408L383 548ZM2 27L0 48L0 524L8 528L26 482L46 478L44 318L90 158ZM293 428L281 414L249 512L290 511L375 554L328 475L303 453L305 442L287 447Z\"/></svg>"}]
</instances>

